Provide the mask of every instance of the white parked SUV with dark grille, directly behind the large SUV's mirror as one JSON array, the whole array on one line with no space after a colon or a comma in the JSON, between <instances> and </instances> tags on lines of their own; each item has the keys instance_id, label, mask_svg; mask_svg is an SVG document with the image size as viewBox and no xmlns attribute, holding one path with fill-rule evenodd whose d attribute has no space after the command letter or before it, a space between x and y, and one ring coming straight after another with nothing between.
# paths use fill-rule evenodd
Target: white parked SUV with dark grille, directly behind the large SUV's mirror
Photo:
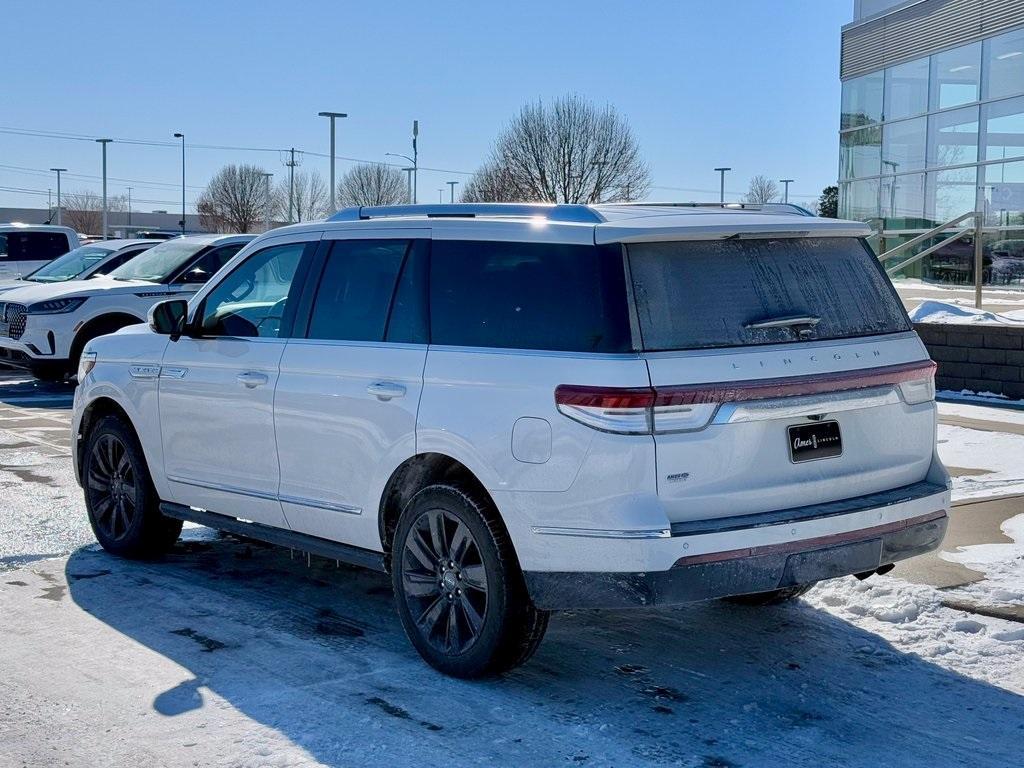
<instances>
[{"instance_id":1,"label":"white parked SUV with dark grille, directly behind the large SUV's mirror","mask_svg":"<svg viewBox=\"0 0 1024 768\"><path fill-rule=\"evenodd\" d=\"M17 288L0 294L0 359L36 378L74 373L86 342L144 323L168 296L191 294L255 236L177 238L101 278Z\"/></svg>"}]
</instances>

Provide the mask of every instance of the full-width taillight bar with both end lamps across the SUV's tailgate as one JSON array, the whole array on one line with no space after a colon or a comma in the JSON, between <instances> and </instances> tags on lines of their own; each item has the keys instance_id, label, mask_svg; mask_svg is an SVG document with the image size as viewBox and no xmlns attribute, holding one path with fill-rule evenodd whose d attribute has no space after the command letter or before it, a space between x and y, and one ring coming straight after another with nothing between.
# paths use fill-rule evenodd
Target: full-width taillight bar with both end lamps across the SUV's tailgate
<instances>
[{"instance_id":1,"label":"full-width taillight bar with both end lamps across the SUV's tailgate","mask_svg":"<svg viewBox=\"0 0 1024 768\"><path fill-rule=\"evenodd\" d=\"M717 382L669 387L555 388L559 412L588 427L618 434L692 432L711 424L724 402L826 394L873 387L897 387L914 406L935 399L931 360L783 379ZM891 390L890 390L891 391Z\"/></svg>"}]
</instances>

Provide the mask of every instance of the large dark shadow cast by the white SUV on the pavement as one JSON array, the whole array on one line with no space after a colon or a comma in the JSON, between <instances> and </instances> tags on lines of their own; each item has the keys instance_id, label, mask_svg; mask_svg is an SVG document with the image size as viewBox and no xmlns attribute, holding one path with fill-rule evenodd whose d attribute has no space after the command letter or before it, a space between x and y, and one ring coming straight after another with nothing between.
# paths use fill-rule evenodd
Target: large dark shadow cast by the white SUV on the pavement
<instances>
[{"instance_id":1,"label":"large dark shadow cast by the white SUV on the pavement","mask_svg":"<svg viewBox=\"0 0 1024 768\"><path fill-rule=\"evenodd\" d=\"M161 716L215 691L329 765L1007 766L1024 742L1024 697L802 602L562 613L528 665L463 682L416 655L382 574L207 538L81 549L67 577L190 672Z\"/></svg>"}]
</instances>

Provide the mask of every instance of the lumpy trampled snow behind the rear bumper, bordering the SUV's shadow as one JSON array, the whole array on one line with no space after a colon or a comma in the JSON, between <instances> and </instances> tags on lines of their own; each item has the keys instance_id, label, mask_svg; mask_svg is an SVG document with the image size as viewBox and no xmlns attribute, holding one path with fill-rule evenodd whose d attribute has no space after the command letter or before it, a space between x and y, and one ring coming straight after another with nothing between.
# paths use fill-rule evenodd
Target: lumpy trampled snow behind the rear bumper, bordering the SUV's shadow
<instances>
[{"instance_id":1,"label":"lumpy trampled snow behind the rear bumper, bordering the SUV's shadow","mask_svg":"<svg viewBox=\"0 0 1024 768\"><path fill-rule=\"evenodd\" d=\"M942 598L932 587L891 577L865 582L849 577L822 582L804 599L897 650L1024 694L1024 627L953 610ZM892 654L885 644L870 642L856 650L871 657Z\"/></svg>"}]
</instances>

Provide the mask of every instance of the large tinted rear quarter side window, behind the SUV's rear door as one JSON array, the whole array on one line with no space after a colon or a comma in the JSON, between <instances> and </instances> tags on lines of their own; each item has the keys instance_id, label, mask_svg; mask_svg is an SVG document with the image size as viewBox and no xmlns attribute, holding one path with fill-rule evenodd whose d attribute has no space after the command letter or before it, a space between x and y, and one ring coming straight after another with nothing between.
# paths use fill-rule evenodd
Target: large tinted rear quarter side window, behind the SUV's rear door
<instances>
[{"instance_id":1,"label":"large tinted rear quarter side window, behind the SUV's rear door","mask_svg":"<svg viewBox=\"0 0 1024 768\"><path fill-rule=\"evenodd\" d=\"M621 247L435 240L430 341L624 352L631 347Z\"/></svg>"}]
</instances>

